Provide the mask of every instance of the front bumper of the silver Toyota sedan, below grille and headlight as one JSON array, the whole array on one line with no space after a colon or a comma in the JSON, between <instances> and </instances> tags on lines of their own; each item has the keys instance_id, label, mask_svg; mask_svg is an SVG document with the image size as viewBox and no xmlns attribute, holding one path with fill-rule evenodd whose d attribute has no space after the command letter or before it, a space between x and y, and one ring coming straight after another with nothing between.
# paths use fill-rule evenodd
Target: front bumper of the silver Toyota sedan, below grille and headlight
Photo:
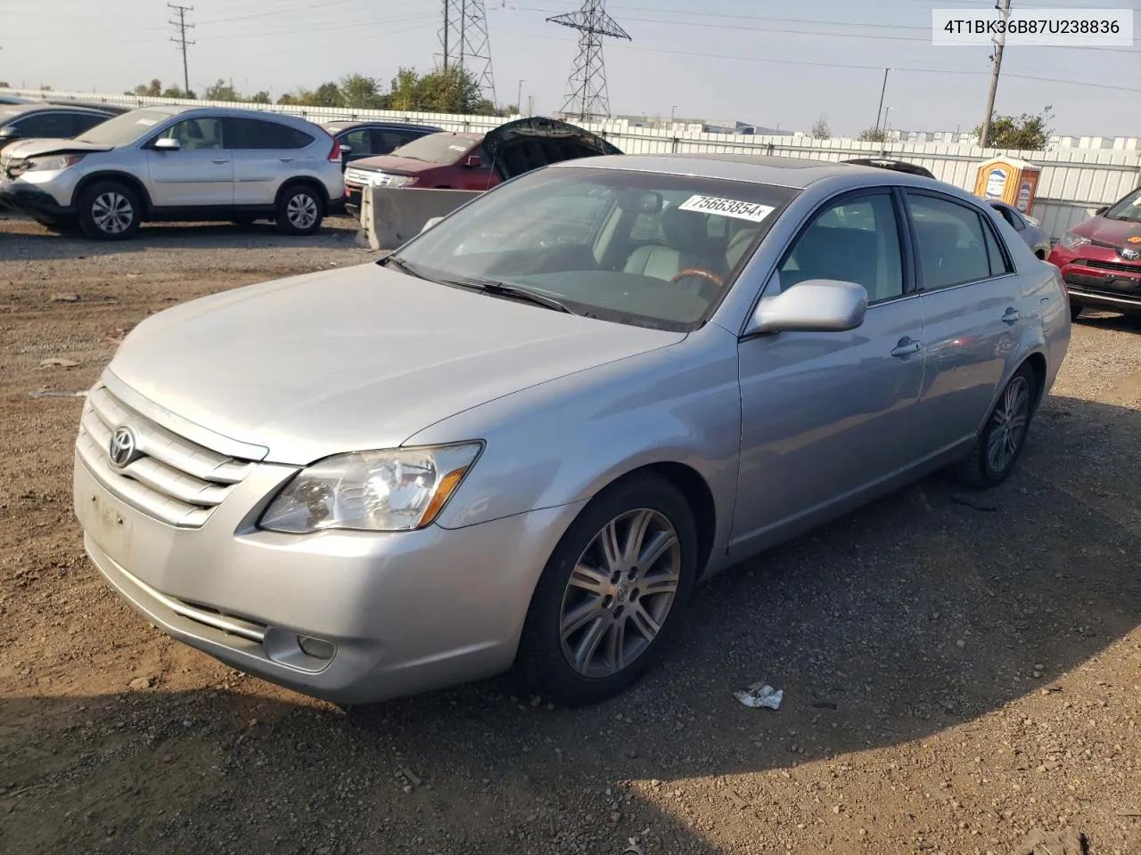
<instances>
[{"instance_id":1,"label":"front bumper of the silver Toyota sedan, below grille and headlight","mask_svg":"<svg viewBox=\"0 0 1141 855\"><path fill-rule=\"evenodd\" d=\"M187 529L136 510L76 454L84 547L160 629L304 694L365 703L511 666L545 556L582 504L452 530L253 528L289 471L258 466L204 524ZM299 636L330 642L335 653L314 658Z\"/></svg>"}]
</instances>

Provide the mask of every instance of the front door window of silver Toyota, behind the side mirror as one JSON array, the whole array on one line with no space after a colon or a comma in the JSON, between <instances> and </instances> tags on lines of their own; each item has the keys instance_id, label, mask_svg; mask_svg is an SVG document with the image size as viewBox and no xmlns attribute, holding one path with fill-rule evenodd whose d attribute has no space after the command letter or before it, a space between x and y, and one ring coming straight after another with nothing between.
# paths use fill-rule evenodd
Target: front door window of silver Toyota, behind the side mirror
<instances>
[{"instance_id":1,"label":"front door window of silver Toyota, behind the side mirror","mask_svg":"<svg viewBox=\"0 0 1141 855\"><path fill-rule=\"evenodd\" d=\"M780 288L808 279L855 282L869 303L904 293L899 223L890 193L826 204L793 241L777 268Z\"/></svg>"}]
</instances>

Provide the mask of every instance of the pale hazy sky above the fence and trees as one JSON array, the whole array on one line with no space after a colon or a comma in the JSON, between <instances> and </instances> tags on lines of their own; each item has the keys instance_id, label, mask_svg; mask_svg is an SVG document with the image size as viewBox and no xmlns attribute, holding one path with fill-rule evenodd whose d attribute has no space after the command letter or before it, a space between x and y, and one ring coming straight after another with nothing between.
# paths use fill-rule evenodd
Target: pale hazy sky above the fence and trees
<instances>
[{"instance_id":1,"label":"pale hazy sky above the fence and trees","mask_svg":"<svg viewBox=\"0 0 1141 855\"><path fill-rule=\"evenodd\" d=\"M361 72L387 82L400 65L431 68L442 0L180 0L193 5L191 85L218 78L276 99L298 85ZM1134 9L1139 0L1014 0L1015 8ZM486 0L500 104L534 97L561 108L576 34L545 18L576 0ZM981 120L985 47L931 44L931 9L985 0L615 0L633 36L608 42L614 113L733 119L836 135L875 123L883 67L892 128L969 130ZM181 83L164 0L0 0L0 80L57 90L122 91ZM921 71L926 70L926 71ZM934 73L936 70L940 73ZM1038 78L1039 80L1034 80ZM1046 78L1050 80L1041 80ZM1062 81L1062 82L1052 82ZM1067 82L1075 81L1075 82ZM996 109L1053 105L1055 132L1141 136L1141 47L1008 48Z\"/></svg>"}]
</instances>

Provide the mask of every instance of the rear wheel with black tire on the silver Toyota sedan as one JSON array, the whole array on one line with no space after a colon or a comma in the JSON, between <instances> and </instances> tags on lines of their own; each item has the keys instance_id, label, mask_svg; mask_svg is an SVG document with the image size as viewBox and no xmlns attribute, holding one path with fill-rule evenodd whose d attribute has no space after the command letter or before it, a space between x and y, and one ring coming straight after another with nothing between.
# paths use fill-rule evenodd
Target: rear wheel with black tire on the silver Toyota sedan
<instances>
[{"instance_id":1,"label":"rear wheel with black tire on the silver Toyota sedan","mask_svg":"<svg viewBox=\"0 0 1141 855\"><path fill-rule=\"evenodd\" d=\"M1026 448L1026 437L1037 404L1038 377L1034 368L1023 363L1006 382L994 409L987 415L987 423L979 433L971 455L956 467L958 479L980 489L989 489L1005 481ZM1006 439L1003 440L995 434L1005 431L1009 418L1018 421L1018 424L1006 432Z\"/></svg>"}]
</instances>

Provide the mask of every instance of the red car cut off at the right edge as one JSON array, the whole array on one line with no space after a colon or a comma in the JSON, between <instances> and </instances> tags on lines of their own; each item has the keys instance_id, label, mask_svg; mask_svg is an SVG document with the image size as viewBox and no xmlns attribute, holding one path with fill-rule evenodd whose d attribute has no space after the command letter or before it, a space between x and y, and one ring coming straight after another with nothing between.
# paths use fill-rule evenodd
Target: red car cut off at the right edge
<instances>
[{"instance_id":1,"label":"red car cut off at the right edge","mask_svg":"<svg viewBox=\"0 0 1141 855\"><path fill-rule=\"evenodd\" d=\"M1067 231L1050 263L1062 271L1071 317L1086 306L1141 315L1141 187Z\"/></svg>"}]
</instances>

